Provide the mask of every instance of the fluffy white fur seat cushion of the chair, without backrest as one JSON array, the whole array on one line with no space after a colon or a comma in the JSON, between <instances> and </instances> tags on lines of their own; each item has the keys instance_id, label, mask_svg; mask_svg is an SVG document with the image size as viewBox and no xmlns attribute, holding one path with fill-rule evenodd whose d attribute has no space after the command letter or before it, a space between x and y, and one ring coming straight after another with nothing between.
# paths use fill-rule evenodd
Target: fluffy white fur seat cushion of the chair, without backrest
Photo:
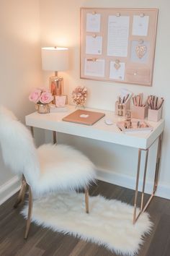
<instances>
[{"instance_id":1,"label":"fluffy white fur seat cushion of the chair, without backrest","mask_svg":"<svg viewBox=\"0 0 170 256\"><path fill-rule=\"evenodd\" d=\"M94 179L94 165L78 150L67 145L42 145L38 190L86 187Z\"/></svg>"}]
</instances>

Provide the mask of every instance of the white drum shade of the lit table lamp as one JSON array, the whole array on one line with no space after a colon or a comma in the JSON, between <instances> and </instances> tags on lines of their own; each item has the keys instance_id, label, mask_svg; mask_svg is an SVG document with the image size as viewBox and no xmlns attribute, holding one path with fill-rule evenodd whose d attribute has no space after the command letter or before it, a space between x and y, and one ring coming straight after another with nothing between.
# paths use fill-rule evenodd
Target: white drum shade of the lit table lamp
<instances>
[{"instance_id":1,"label":"white drum shade of the lit table lamp","mask_svg":"<svg viewBox=\"0 0 170 256\"><path fill-rule=\"evenodd\" d=\"M41 49L42 69L65 71L68 69L68 48L45 47Z\"/></svg>"}]
</instances>

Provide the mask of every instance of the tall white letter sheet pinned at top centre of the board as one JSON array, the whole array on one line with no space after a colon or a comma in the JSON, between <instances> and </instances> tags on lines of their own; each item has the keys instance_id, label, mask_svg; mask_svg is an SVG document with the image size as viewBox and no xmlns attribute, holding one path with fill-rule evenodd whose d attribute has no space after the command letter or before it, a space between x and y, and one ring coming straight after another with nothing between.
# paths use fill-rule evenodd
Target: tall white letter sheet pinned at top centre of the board
<instances>
[{"instance_id":1,"label":"tall white letter sheet pinned at top centre of the board","mask_svg":"<svg viewBox=\"0 0 170 256\"><path fill-rule=\"evenodd\" d=\"M109 16L107 56L126 57L128 55L129 22L128 16Z\"/></svg>"}]
</instances>

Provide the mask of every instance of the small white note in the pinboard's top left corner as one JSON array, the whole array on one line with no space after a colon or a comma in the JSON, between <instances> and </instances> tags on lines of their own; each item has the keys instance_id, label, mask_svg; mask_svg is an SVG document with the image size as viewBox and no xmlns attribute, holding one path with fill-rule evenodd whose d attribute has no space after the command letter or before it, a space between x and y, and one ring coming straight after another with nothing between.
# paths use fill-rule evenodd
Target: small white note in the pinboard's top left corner
<instances>
[{"instance_id":1,"label":"small white note in the pinboard's top left corner","mask_svg":"<svg viewBox=\"0 0 170 256\"><path fill-rule=\"evenodd\" d=\"M100 32L100 14L86 14L86 32Z\"/></svg>"}]
</instances>

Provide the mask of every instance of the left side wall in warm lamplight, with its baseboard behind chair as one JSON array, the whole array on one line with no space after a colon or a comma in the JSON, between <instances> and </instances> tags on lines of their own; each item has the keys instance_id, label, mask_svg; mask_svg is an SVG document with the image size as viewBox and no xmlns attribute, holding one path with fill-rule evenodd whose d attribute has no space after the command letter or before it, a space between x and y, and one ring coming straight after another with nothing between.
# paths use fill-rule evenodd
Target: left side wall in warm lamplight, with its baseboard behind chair
<instances>
[{"instance_id":1,"label":"left side wall in warm lamplight, with its baseboard behind chair","mask_svg":"<svg viewBox=\"0 0 170 256\"><path fill-rule=\"evenodd\" d=\"M39 18L39 0L0 2L0 105L22 121L34 109L30 90L41 85ZM0 204L18 185L0 151Z\"/></svg>"}]
</instances>

